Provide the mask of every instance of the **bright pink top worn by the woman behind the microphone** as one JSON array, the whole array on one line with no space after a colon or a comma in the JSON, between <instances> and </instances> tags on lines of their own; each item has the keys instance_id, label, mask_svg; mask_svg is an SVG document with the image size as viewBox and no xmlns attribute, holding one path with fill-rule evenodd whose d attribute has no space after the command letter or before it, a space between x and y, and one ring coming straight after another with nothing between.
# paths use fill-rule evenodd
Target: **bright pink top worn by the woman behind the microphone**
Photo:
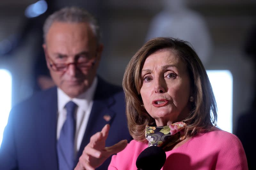
<instances>
[{"instance_id":1,"label":"bright pink top worn by the woman behind the microphone","mask_svg":"<svg viewBox=\"0 0 256 170\"><path fill-rule=\"evenodd\" d=\"M126 148L112 156L108 170L137 170L136 159L148 144L132 140ZM235 135L223 130L202 133L180 147L166 153L161 170L247 170L242 143ZM149 164L156 163L148 160Z\"/></svg>"}]
</instances>

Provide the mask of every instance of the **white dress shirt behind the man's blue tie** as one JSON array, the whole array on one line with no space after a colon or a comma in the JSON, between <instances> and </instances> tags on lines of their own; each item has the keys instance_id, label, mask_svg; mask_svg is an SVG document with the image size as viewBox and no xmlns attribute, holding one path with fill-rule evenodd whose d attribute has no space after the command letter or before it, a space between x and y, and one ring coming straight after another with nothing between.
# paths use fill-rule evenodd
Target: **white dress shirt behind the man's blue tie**
<instances>
[{"instance_id":1,"label":"white dress shirt behind the man's blue tie","mask_svg":"<svg viewBox=\"0 0 256 170\"><path fill-rule=\"evenodd\" d=\"M57 140L60 137L60 130L66 121L67 111L65 105L68 101L72 100L77 105L75 112L76 118L76 135L75 135L75 154L79 151L84 132L89 120L89 116L92 110L93 96L97 86L98 78L95 77L91 87L84 93L80 94L77 98L70 98L60 88L57 88L58 96L58 122L57 122Z\"/></svg>"}]
</instances>

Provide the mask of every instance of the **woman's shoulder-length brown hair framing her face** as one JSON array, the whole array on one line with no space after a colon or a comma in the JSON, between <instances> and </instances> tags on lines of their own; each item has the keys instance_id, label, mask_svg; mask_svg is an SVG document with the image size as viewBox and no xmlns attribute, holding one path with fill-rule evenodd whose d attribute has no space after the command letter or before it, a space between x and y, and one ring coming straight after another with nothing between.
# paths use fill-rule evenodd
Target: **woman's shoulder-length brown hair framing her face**
<instances>
[{"instance_id":1,"label":"woman's shoulder-length brown hair framing her face","mask_svg":"<svg viewBox=\"0 0 256 170\"><path fill-rule=\"evenodd\" d=\"M216 126L217 108L212 86L204 66L188 42L173 38L154 38L146 42L128 63L123 79L128 128L137 141L145 140L146 125L156 122L143 107L140 88L140 74L146 58L159 49L168 48L186 64L190 78L194 102L189 116L183 120L187 124L186 136L195 136L201 131L211 131Z\"/></svg>"}]
</instances>

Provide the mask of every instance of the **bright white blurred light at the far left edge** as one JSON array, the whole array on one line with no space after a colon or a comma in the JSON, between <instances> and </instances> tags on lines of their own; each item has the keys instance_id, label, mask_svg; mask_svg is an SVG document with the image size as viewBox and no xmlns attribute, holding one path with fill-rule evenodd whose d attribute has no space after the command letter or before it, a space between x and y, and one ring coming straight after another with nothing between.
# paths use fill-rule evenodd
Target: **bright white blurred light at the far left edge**
<instances>
[{"instance_id":1,"label":"bright white blurred light at the far left edge","mask_svg":"<svg viewBox=\"0 0 256 170\"><path fill-rule=\"evenodd\" d=\"M4 128L12 105L12 76L8 70L0 69L0 146Z\"/></svg>"}]
</instances>

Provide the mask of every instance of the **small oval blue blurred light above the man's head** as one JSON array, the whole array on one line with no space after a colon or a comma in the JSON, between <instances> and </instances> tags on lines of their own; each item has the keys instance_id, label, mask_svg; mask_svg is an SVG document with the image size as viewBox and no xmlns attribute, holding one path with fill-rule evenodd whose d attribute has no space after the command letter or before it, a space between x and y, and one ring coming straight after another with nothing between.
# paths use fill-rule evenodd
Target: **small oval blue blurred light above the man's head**
<instances>
[{"instance_id":1,"label":"small oval blue blurred light above the man's head","mask_svg":"<svg viewBox=\"0 0 256 170\"><path fill-rule=\"evenodd\" d=\"M37 1L35 4L29 5L25 10L25 15L28 18L37 17L47 10L47 3L45 0Z\"/></svg>"}]
</instances>

